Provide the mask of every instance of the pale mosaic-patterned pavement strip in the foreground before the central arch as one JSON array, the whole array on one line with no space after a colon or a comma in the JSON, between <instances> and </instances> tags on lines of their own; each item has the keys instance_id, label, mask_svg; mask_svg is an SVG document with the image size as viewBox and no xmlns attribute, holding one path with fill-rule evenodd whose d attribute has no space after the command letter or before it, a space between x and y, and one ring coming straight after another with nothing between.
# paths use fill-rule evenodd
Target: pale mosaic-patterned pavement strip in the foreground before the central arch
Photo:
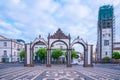
<instances>
[{"instance_id":1,"label":"pale mosaic-patterned pavement strip in the foreground before the central arch","mask_svg":"<svg viewBox=\"0 0 120 80\"><path fill-rule=\"evenodd\" d=\"M74 70L47 70L39 75L35 80L85 80L85 77L81 73Z\"/></svg>"}]
</instances>

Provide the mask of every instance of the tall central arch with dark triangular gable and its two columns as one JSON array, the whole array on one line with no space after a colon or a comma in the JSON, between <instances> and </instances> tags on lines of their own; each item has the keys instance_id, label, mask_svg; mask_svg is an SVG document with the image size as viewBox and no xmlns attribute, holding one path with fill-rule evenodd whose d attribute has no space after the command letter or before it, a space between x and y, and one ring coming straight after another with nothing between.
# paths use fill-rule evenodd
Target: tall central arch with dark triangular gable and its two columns
<instances>
[{"instance_id":1,"label":"tall central arch with dark triangular gable and its two columns","mask_svg":"<svg viewBox=\"0 0 120 80\"><path fill-rule=\"evenodd\" d=\"M55 34L48 36L48 52L47 52L47 67L51 67L51 46L55 42L63 42L68 50L67 67L71 67L71 52L70 52L70 35L66 36L61 29L58 29Z\"/></svg>"}]
</instances>

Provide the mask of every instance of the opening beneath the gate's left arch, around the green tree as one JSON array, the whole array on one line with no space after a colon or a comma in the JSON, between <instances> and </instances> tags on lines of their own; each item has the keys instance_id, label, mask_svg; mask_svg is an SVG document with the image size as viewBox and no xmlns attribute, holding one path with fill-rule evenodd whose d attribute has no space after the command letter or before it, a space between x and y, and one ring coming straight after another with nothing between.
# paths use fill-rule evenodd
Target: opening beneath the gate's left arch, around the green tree
<instances>
[{"instance_id":1,"label":"opening beneath the gate's left arch, around the green tree","mask_svg":"<svg viewBox=\"0 0 120 80\"><path fill-rule=\"evenodd\" d=\"M46 54L44 59L41 59L39 55L37 55L37 51L41 50L41 49L45 49L46 50ZM47 45L42 42L42 41L37 41L35 43L33 43L33 45L31 46L31 52L32 52L32 59L33 59L33 64L46 64L46 59L47 59ZM40 53L39 53L40 54Z\"/></svg>"}]
</instances>

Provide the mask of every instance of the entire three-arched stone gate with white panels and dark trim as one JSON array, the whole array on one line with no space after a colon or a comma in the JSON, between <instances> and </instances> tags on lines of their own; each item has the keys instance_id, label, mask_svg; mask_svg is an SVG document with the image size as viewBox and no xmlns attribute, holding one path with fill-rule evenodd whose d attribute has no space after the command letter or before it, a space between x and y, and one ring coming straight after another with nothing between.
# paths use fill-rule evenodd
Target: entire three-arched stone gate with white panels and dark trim
<instances>
[{"instance_id":1,"label":"entire three-arched stone gate with white panels and dark trim","mask_svg":"<svg viewBox=\"0 0 120 80\"><path fill-rule=\"evenodd\" d=\"M72 51L72 46L74 44L81 44L84 47L84 67L87 66L93 66L92 64L92 53L93 53L93 45L89 45L88 43L85 43L83 39L77 37L76 39L73 40L71 43L71 37L70 34L67 36L65 35L61 29L58 29L56 33L53 35L48 35L48 42L44 40L44 38L36 38L33 42L25 44L25 64L24 66L34 66L33 63L33 47L37 43L44 43L47 48L47 67L51 67L51 46L55 42L63 42L64 45L67 47L67 52L68 52L68 58L67 58L67 67L72 67L71 65L71 51Z\"/></svg>"}]
</instances>

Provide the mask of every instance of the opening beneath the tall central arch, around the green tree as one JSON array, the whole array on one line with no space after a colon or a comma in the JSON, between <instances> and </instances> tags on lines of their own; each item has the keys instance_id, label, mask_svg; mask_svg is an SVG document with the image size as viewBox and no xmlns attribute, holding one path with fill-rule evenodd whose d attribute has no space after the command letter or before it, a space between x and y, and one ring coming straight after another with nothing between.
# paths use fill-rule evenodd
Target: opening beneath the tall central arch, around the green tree
<instances>
[{"instance_id":1,"label":"opening beneath the tall central arch, around the green tree","mask_svg":"<svg viewBox=\"0 0 120 80\"><path fill-rule=\"evenodd\" d=\"M62 40L56 40L51 43L50 49L51 49L50 52L51 52L51 63L52 64L66 64L67 63L68 45L66 42ZM59 56L57 61L55 60L54 55L52 55L54 50L62 51L62 55Z\"/></svg>"}]
</instances>

